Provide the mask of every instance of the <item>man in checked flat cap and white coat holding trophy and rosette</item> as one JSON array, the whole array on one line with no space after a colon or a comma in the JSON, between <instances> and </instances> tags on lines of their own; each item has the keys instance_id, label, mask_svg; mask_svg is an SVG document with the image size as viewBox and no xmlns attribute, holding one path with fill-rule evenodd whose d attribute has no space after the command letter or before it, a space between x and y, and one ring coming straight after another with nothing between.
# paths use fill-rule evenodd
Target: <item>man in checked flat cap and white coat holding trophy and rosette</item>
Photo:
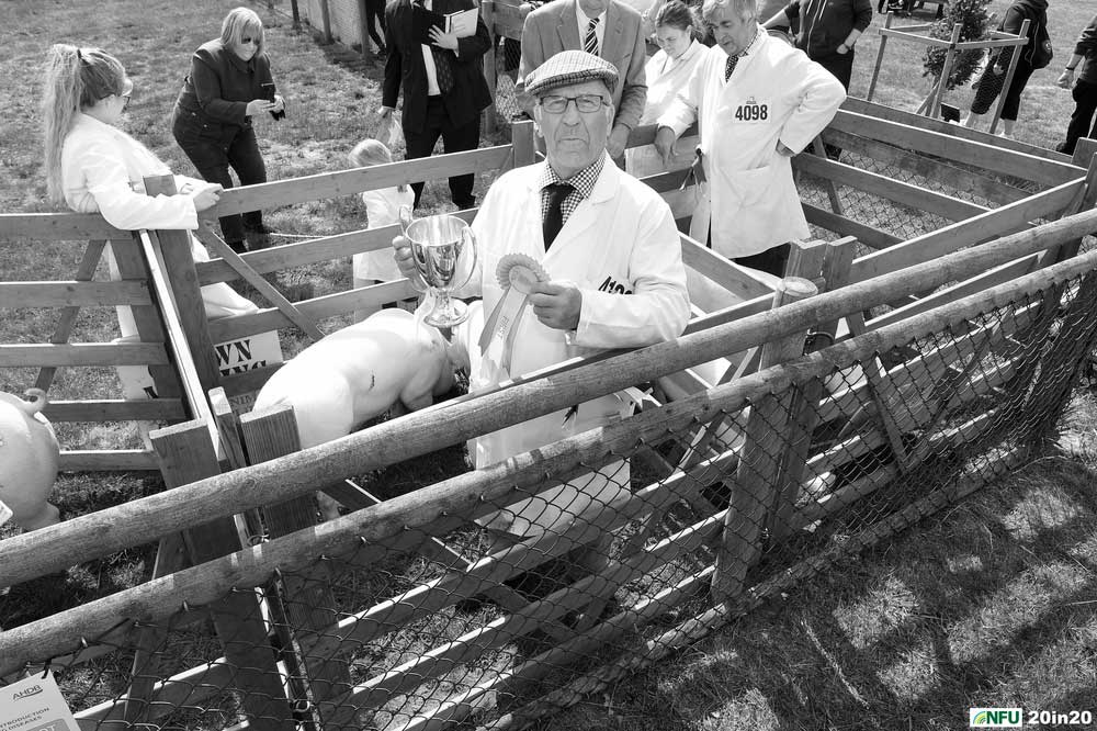
<instances>
[{"instance_id":1,"label":"man in checked flat cap and white coat holding trophy and rosette","mask_svg":"<svg viewBox=\"0 0 1097 731\"><path fill-rule=\"evenodd\" d=\"M511 337L487 338L483 357L473 334L471 391L598 349L675 338L686 327L686 270L670 209L606 151L617 80L612 64L583 50L556 54L528 77L547 161L511 170L491 185L473 222L478 270L460 293L483 295L484 313L506 308L521 296L500 282L513 281L508 272L520 267L525 283L513 289L529 291L528 306L498 318L514 322ZM404 240L394 246L400 271L418 277ZM487 319L490 336L499 328ZM625 400L609 395L485 435L473 445L476 466L630 411ZM589 519L627 492L627 464L609 464L509 506L489 527L518 538L561 532L588 508Z\"/></svg>"}]
</instances>

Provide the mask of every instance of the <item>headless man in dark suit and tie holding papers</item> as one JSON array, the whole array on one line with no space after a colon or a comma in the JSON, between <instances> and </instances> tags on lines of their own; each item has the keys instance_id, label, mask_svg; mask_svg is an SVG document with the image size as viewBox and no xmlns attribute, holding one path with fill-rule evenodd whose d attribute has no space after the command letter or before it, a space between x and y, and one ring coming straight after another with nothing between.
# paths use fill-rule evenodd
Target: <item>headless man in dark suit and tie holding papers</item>
<instances>
[{"instance_id":1,"label":"headless man in dark suit and tie holding papers","mask_svg":"<svg viewBox=\"0 0 1097 731\"><path fill-rule=\"evenodd\" d=\"M421 0L418 0L421 3ZM427 10L451 13L473 8L472 0L428 0ZM459 38L433 26L428 37L417 37L411 0L394 0L385 9L385 35L388 60L382 87L381 121L396 109L404 90L404 139L407 159L428 157L438 138L446 153L476 149L479 144L480 112L491 103L491 92L484 80L484 54L491 47L491 36L480 18L476 33ZM419 23L419 27L422 24ZM421 42L429 40L430 45ZM459 209L476 205L473 173L450 178L450 195ZM411 183L415 204L419 205L422 183Z\"/></svg>"}]
</instances>

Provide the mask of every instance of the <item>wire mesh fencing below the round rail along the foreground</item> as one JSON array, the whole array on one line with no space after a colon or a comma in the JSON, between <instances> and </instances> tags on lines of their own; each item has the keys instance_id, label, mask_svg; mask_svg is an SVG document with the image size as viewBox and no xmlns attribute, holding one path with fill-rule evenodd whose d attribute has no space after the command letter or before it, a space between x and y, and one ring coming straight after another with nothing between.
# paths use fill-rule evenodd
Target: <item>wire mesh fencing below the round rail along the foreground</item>
<instances>
[{"instance_id":1,"label":"wire mesh fencing below the round rail along the foreground","mask_svg":"<svg viewBox=\"0 0 1097 731\"><path fill-rule=\"evenodd\" d=\"M82 728L522 728L1022 464L1097 337L1082 259L314 530L268 508L5 628L0 673L48 666Z\"/></svg>"}]
</instances>

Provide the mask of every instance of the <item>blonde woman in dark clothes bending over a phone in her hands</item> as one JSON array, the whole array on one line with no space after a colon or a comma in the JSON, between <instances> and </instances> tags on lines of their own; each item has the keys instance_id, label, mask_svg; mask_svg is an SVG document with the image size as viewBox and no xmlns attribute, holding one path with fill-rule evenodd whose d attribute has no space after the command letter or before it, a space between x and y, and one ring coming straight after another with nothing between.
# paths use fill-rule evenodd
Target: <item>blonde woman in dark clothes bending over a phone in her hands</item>
<instances>
[{"instance_id":1,"label":"blonde woman in dark clothes bending over a phone in her hands","mask_svg":"<svg viewBox=\"0 0 1097 731\"><path fill-rule=\"evenodd\" d=\"M225 16L220 37L202 44L191 57L171 132L210 182L231 188L231 166L241 185L252 185L267 182L252 119L265 112L279 119L284 109L284 100L274 92L263 22L253 10L236 8ZM246 240L257 248L269 244L261 211L223 216L220 230L237 252L248 248Z\"/></svg>"}]
</instances>

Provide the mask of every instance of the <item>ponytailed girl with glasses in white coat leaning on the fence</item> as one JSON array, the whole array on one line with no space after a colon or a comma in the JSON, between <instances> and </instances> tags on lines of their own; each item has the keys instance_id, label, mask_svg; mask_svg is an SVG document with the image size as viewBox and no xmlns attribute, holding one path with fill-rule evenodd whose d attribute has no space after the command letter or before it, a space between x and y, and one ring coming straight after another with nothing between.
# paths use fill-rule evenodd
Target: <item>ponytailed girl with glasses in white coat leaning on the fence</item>
<instances>
[{"instance_id":1,"label":"ponytailed girl with glasses in white coat leaning on the fence","mask_svg":"<svg viewBox=\"0 0 1097 731\"><path fill-rule=\"evenodd\" d=\"M46 190L49 200L78 213L100 213L124 230L199 227L197 214L217 203L222 187L176 176L177 195L149 196L144 178L171 175L144 145L117 127L129 104L133 81L118 59L99 48L57 44L46 64L42 111ZM210 255L191 236L195 261ZM111 277L120 279L112 251ZM202 288L210 318L258 310L225 283ZM129 307L118 307L122 336L137 334Z\"/></svg>"}]
</instances>

